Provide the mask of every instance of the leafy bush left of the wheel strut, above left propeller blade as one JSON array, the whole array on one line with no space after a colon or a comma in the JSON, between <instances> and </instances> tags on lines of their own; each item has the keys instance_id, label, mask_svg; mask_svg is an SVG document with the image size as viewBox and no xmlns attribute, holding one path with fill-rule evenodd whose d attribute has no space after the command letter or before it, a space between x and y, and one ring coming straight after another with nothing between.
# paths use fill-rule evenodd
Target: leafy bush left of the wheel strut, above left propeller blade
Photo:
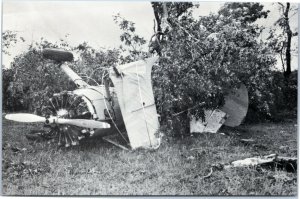
<instances>
[{"instance_id":1,"label":"leafy bush left of the wheel strut, above left propeller blade","mask_svg":"<svg viewBox=\"0 0 300 199\"><path fill-rule=\"evenodd\" d=\"M13 99L12 102L20 104L19 108L39 111L53 93L75 88L54 63L42 57L41 49L59 46L41 39L27 52L14 58L10 69L13 72L12 81L4 92ZM4 101L14 107L12 102Z\"/></svg>"}]
</instances>

